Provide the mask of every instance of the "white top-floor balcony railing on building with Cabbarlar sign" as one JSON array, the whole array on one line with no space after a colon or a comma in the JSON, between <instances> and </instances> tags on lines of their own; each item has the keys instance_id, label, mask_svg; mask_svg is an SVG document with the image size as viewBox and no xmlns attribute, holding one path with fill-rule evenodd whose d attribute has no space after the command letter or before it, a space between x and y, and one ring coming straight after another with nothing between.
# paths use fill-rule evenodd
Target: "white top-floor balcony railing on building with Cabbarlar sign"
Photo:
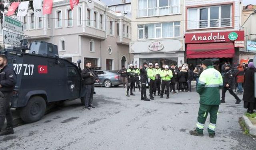
<instances>
[{"instance_id":1,"label":"white top-floor balcony railing on building with Cabbarlar sign","mask_svg":"<svg viewBox=\"0 0 256 150\"><path fill-rule=\"evenodd\" d=\"M136 11L137 17L164 16L180 14L180 6L164 6L156 8L145 8Z\"/></svg>"}]
</instances>

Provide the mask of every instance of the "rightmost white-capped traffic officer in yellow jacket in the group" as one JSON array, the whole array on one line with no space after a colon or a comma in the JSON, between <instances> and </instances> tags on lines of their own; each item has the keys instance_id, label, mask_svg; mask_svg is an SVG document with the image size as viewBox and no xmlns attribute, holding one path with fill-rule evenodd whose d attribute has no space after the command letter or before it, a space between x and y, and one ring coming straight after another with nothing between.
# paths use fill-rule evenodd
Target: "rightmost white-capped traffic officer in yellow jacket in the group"
<instances>
[{"instance_id":1,"label":"rightmost white-capped traffic officer in yellow jacket in the group","mask_svg":"<svg viewBox=\"0 0 256 150\"><path fill-rule=\"evenodd\" d=\"M164 70L161 71L160 76L162 78L162 89L165 88L167 89L167 96L166 99L169 98L169 94L170 94L170 82L171 82L171 78L172 78L172 70L169 70L169 66L164 66ZM163 98L164 95L164 90L161 91L161 97Z\"/></svg>"}]
</instances>

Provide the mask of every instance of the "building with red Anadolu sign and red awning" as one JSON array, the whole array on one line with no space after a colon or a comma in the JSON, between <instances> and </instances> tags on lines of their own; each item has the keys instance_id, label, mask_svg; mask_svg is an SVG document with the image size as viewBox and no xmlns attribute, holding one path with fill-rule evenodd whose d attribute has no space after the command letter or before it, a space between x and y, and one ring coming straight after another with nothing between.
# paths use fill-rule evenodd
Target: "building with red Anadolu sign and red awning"
<instances>
[{"instance_id":1,"label":"building with red Anadolu sign and red awning","mask_svg":"<svg viewBox=\"0 0 256 150\"><path fill-rule=\"evenodd\" d=\"M185 0L185 11L188 64L198 65L205 58L216 66L239 62L239 47L244 42L240 0Z\"/></svg>"}]
</instances>

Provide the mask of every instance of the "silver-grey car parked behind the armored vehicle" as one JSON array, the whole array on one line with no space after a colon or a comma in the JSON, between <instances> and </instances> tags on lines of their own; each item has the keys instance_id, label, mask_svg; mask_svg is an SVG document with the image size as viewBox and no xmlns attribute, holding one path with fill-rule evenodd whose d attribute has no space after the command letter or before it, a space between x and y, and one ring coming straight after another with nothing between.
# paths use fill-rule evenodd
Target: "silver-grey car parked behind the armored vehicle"
<instances>
[{"instance_id":1,"label":"silver-grey car parked behind the armored vehicle","mask_svg":"<svg viewBox=\"0 0 256 150\"><path fill-rule=\"evenodd\" d=\"M122 84L121 74L114 71L106 71L106 70L95 70L98 74L99 83L95 83L95 86L105 86L106 88L110 88L111 86L119 86Z\"/></svg>"}]
</instances>

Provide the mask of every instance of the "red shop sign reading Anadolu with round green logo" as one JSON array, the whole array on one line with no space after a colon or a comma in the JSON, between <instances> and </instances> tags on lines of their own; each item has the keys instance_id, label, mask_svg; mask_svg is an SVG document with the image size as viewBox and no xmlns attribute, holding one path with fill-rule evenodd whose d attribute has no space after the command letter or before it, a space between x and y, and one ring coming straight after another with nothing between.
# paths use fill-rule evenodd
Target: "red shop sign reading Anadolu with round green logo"
<instances>
[{"instance_id":1,"label":"red shop sign reading Anadolu with round green logo","mask_svg":"<svg viewBox=\"0 0 256 150\"><path fill-rule=\"evenodd\" d=\"M185 34L185 43L214 43L244 41L244 31Z\"/></svg>"}]
</instances>

